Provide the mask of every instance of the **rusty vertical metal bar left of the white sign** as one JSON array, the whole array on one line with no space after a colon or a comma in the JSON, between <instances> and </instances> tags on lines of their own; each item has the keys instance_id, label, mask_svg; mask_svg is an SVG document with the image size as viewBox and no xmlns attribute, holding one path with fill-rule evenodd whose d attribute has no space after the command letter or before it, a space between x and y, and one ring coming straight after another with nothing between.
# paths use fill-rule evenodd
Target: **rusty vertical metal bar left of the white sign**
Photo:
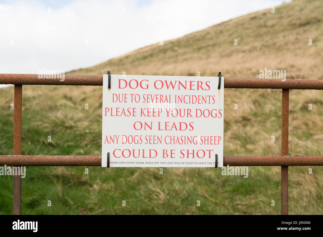
<instances>
[{"instance_id":1,"label":"rusty vertical metal bar left of the white sign","mask_svg":"<svg viewBox=\"0 0 323 237\"><path fill-rule=\"evenodd\" d=\"M15 85L14 98L14 155L21 155L22 85ZM21 215L21 177L13 175L13 214Z\"/></svg>"}]
</instances>

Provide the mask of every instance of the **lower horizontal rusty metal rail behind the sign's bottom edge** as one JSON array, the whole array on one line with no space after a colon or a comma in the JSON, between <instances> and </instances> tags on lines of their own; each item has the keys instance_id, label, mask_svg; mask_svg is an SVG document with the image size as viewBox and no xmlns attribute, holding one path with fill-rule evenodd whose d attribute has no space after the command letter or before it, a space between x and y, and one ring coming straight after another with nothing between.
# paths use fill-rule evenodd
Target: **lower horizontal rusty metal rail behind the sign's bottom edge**
<instances>
[{"instance_id":1,"label":"lower horizontal rusty metal rail behind the sign's bottom edge","mask_svg":"<svg viewBox=\"0 0 323 237\"><path fill-rule=\"evenodd\" d=\"M323 156L224 156L224 166L323 165ZM101 166L101 156L90 155L0 155L7 166Z\"/></svg>"}]
</instances>

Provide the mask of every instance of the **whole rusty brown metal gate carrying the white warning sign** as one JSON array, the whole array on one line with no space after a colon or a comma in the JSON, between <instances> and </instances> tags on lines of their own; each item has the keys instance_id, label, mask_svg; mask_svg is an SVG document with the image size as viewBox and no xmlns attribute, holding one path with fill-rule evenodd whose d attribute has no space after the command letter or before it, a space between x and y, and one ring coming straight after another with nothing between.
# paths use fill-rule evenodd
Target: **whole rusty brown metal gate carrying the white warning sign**
<instances>
[{"instance_id":1,"label":"whole rusty brown metal gate carrying the white warning sign","mask_svg":"<svg viewBox=\"0 0 323 237\"><path fill-rule=\"evenodd\" d=\"M102 85L102 75L0 74L0 84L14 84L14 154L0 155L0 166L101 166L100 156L21 155L22 85ZM46 78L44 75L42 78ZM54 79L55 78L55 79ZM289 90L323 90L323 80L224 78L224 88L282 89L281 156L224 156L223 165L281 166L281 214L288 214L288 166L323 165L323 156L288 156ZM21 214L21 177L13 176L13 214Z\"/></svg>"}]
</instances>

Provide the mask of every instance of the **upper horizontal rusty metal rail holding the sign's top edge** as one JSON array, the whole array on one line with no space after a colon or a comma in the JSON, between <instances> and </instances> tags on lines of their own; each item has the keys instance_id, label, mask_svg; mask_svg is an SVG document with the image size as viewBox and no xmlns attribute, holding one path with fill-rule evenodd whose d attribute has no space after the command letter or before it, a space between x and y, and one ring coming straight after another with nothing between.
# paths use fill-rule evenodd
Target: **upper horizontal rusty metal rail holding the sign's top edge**
<instances>
[{"instance_id":1,"label":"upper horizontal rusty metal rail holding the sign's top edge","mask_svg":"<svg viewBox=\"0 0 323 237\"><path fill-rule=\"evenodd\" d=\"M47 78L46 78L47 77ZM103 75L65 75L64 81L56 75L38 74L0 74L0 84L26 85L102 85ZM225 88L253 89L307 89L323 90L323 80L306 79L259 79L259 78L224 78Z\"/></svg>"}]
</instances>

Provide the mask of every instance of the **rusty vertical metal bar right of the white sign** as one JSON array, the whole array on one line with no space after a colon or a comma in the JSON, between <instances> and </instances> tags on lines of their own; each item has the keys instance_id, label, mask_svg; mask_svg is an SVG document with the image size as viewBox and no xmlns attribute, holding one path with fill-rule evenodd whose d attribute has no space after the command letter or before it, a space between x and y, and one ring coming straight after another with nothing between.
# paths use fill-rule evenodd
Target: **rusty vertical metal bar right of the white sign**
<instances>
[{"instance_id":1,"label":"rusty vertical metal bar right of the white sign","mask_svg":"<svg viewBox=\"0 0 323 237\"><path fill-rule=\"evenodd\" d=\"M289 90L282 90L281 155L288 155ZM288 215L288 166L281 166L281 214Z\"/></svg>"}]
</instances>

